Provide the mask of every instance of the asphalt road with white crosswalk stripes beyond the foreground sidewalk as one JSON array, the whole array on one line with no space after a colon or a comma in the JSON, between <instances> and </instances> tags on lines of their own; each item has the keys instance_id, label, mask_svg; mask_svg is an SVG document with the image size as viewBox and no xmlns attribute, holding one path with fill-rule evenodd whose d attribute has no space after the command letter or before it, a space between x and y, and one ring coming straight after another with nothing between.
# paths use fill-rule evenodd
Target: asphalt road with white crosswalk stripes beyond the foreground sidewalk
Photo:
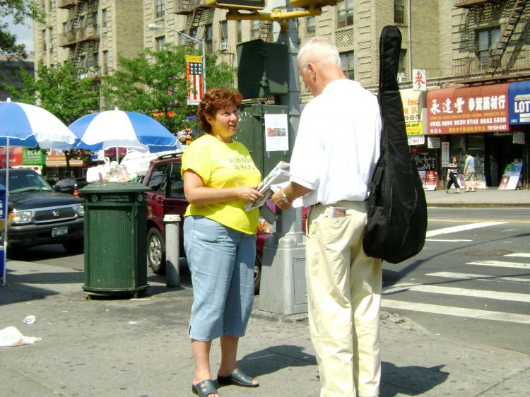
<instances>
[{"instance_id":1,"label":"asphalt road with white crosswalk stripes beyond the foreground sidewalk","mask_svg":"<svg viewBox=\"0 0 530 397\"><path fill-rule=\"evenodd\" d=\"M382 309L446 338L530 354L529 235L525 208L429 208L423 251L384 263ZM83 271L83 255L59 244L11 256ZM148 269L151 280L164 283Z\"/></svg>"}]
</instances>

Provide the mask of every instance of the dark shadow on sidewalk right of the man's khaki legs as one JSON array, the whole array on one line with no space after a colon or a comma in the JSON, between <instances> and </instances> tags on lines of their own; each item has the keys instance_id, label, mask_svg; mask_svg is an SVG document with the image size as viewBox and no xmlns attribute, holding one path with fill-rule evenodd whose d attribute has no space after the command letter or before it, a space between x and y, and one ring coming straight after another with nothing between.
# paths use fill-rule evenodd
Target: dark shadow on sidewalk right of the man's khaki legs
<instances>
[{"instance_id":1,"label":"dark shadow on sidewalk right of the man's khaki legs","mask_svg":"<svg viewBox=\"0 0 530 397\"><path fill-rule=\"evenodd\" d=\"M420 396L444 383L449 372L443 372L444 365L435 367L396 367L391 362L381 363L381 397L394 397L405 393L406 396Z\"/></svg>"}]
</instances>

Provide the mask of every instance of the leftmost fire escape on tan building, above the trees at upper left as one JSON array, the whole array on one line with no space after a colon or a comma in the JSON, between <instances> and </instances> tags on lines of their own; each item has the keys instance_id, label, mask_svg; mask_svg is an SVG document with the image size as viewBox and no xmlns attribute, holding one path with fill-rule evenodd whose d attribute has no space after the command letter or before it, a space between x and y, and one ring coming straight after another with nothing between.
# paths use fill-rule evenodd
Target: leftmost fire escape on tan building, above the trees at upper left
<instances>
[{"instance_id":1,"label":"leftmost fire escape on tan building, above the trees at upper left","mask_svg":"<svg viewBox=\"0 0 530 397\"><path fill-rule=\"evenodd\" d=\"M80 69L80 77L99 76L98 0L59 0L58 8L68 10L66 32L59 37L59 46L69 49L69 61Z\"/></svg>"}]
</instances>

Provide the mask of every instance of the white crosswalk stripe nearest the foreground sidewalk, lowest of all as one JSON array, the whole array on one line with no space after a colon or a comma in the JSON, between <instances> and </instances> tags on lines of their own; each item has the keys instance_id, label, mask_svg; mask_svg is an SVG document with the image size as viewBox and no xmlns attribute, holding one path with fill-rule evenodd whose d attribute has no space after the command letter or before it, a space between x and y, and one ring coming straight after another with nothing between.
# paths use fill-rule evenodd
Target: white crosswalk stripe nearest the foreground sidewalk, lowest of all
<instances>
[{"instance_id":1,"label":"white crosswalk stripe nearest the foreground sidewalk, lowest of all","mask_svg":"<svg viewBox=\"0 0 530 397\"><path fill-rule=\"evenodd\" d=\"M488 310L465 309L463 307L438 306L428 303L401 302L397 300L382 300L381 306L387 309L408 310L410 312L425 312L444 314L446 316L467 317L469 319L482 319L493 321L507 321L510 323L530 324L530 316L503 312L490 312Z\"/></svg>"}]
</instances>

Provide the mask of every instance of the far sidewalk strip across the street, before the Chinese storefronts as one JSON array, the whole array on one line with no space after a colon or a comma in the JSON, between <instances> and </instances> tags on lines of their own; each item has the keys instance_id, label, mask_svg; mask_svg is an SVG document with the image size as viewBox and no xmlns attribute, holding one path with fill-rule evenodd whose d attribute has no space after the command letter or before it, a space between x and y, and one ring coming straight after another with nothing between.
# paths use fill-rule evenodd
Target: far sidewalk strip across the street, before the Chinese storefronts
<instances>
[{"instance_id":1,"label":"far sidewalk strip across the street, before the Chinese storefronts","mask_svg":"<svg viewBox=\"0 0 530 397\"><path fill-rule=\"evenodd\" d=\"M530 190L477 189L474 192L457 193L450 189L425 191L428 206L433 207L530 207Z\"/></svg>"}]
</instances>

